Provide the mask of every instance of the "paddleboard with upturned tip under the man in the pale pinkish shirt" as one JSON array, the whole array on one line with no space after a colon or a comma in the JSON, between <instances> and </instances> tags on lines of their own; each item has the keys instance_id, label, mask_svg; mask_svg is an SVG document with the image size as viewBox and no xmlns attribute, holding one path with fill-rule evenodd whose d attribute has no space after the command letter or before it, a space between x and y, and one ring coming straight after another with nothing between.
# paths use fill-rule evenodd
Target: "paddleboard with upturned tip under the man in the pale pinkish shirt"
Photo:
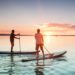
<instances>
[{"instance_id":1,"label":"paddleboard with upturned tip under the man in the pale pinkish shirt","mask_svg":"<svg viewBox=\"0 0 75 75\"><path fill-rule=\"evenodd\" d=\"M44 59L53 59L53 58L58 58L58 57L61 57L63 56L64 54L66 54L67 51L61 51L61 52L55 52L55 53L51 53L50 54L45 54L45 58ZM36 57L32 57L32 58L29 58L29 59L22 59L21 61L22 62L27 62L27 61L33 61L33 60L36 60ZM40 57L38 60L43 60L42 57Z\"/></svg>"}]
</instances>

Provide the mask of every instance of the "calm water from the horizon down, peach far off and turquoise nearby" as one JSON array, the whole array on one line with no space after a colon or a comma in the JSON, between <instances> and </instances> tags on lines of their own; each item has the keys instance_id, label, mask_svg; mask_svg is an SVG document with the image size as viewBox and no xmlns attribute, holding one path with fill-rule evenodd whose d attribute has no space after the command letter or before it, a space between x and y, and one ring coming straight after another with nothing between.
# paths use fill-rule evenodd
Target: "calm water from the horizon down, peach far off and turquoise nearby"
<instances>
[{"instance_id":1,"label":"calm water from the horizon down, peach far off and turquoise nearby","mask_svg":"<svg viewBox=\"0 0 75 75\"><path fill-rule=\"evenodd\" d=\"M66 50L67 54L62 58L45 60L44 66L36 66L36 61L21 62L21 59L32 55L0 55L0 75L75 75L75 37L45 36L44 40L50 52ZM20 45L21 51L35 51L33 36L21 37ZM19 40L15 40L14 51L19 50ZM0 36L0 51L10 51L9 37Z\"/></svg>"}]
</instances>

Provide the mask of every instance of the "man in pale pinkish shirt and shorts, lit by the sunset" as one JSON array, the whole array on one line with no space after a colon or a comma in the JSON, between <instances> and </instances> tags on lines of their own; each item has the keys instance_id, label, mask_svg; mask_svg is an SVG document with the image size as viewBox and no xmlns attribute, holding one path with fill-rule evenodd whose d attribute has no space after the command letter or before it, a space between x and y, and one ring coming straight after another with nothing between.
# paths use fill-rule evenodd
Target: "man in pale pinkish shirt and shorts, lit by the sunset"
<instances>
[{"instance_id":1,"label":"man in pale pinkish shirt and shorts, lit by the sunset","mask_svg":"<svg viewBox=\"0 0 75 75\"><path fill-rule=\"evenodd\" d=\"M44 39L42 33L40 33L40 29L37 29L37 33L35 34L35 40L36 40L36 52L37 52L36 53L37 64L39 59L39 48L42 51L43 63L44 63L44 50L43 50Z\"/></svg>"}]
</instances>

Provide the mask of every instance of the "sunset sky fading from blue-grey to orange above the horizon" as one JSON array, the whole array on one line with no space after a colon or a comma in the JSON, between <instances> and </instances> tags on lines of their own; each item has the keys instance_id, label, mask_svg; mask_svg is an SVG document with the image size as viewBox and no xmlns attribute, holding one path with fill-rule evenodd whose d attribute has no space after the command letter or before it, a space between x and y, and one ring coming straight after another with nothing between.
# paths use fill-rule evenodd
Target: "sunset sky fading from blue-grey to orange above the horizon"
<instances>
[{"instance_id":1,"label":"sunset sky fading from blue-grey to orange above the horizon","mask_svg":"<svg viewBox=\"0 0 75 75\"><path fill-rule=\"evenodd\" d=\"M0 0L0 33L75 33L75 0Z\"/></svg>"}]
</instances>

